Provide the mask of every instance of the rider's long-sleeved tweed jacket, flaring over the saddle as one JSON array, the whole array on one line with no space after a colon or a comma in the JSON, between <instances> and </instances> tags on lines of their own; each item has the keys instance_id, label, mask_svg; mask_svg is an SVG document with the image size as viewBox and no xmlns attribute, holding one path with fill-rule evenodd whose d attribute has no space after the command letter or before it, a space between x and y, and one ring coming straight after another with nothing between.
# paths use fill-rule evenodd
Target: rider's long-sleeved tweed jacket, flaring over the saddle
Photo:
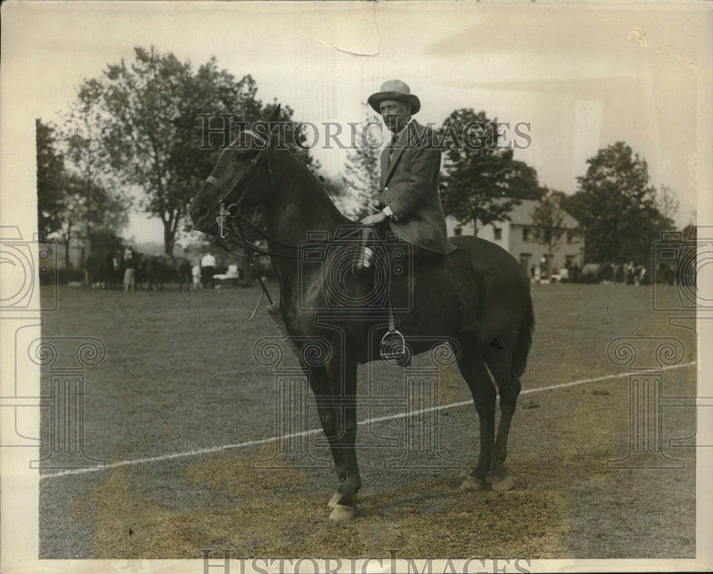
<instances>
[{"instance_id":1,"label":"rider's long-sleeved tweed jacket, flaring over the saddle","mask_svg":"<svg viewBox=\"0 0 713 574\"><path fill-rule=\"evenodd\" d=\"M381 154L381 201L391 208L391 230L401 240L447 255L446 217L438 196L441 150L431 128L411 120L391 148ZM391 155L391 158L389 158Z\"/></svg>"}]
</instances>

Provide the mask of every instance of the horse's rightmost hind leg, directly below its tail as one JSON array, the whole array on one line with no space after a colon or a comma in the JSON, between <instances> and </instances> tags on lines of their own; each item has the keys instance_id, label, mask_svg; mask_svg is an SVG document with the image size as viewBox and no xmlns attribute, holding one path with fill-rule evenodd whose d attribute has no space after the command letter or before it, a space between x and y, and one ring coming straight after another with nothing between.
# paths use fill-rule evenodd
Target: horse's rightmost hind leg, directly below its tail
<instances>
[{"instance_id":1,"label":"horse's rightmost hind leg, directly below its tail","mask_svg":"<svg viewBox=\"0 0 713 574\"><path fill-rule=\"evenodd\" d=\"M510 425L520 394L520 379L513 371L511 353L507 349L491 347L485 353L485 360L498 385L501 411L498 435L493 448L493 463L488 478L493 485L493 490L507 491L514 482L512 474L505 466L505 459L508 456Z\"/></svg>"}]
</instances>

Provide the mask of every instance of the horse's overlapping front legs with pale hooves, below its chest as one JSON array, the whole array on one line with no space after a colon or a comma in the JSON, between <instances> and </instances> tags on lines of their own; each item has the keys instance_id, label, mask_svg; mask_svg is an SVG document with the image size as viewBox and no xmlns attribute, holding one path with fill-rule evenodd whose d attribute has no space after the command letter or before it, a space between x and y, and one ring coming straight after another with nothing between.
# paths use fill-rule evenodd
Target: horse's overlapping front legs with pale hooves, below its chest
<instances>
[{"instance_id":1,"label":"horse's overlapping front legs with pale hooves, below its chest","mask_svg":"<svg viewBox=\"0 0 713 574\"><path fill-rule=\"evenodd\" d=\"M337 470L337 492L329 501L329 518L349 521L359 513L356 493L361 488L356 461L356 362L332 357L324 369L312 371L322 429L332 449Z\"/></svg>"}]
</instances>

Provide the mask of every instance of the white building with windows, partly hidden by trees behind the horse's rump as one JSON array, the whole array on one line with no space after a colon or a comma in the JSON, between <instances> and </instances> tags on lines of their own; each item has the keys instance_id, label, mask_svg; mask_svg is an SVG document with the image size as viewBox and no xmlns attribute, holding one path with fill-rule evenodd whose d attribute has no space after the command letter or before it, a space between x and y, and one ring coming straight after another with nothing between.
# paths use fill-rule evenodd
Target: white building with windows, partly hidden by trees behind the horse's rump
<instances>
[{"instance_id":1,"label":"white building with windows, partly hidden by trees behind the horse's rump","mask_svg":"<svg viewBox=\"0 0 713 574\"><path fill-rule=\"evenodd\" d=\"M520 262L530 274L533 265L547 260L547 246L535 240L532 213L537 202L522 200L510 212L510 221L479 226L478 237L492 241L503 247ZM565 232L553 250L553 273L566 265L583 266L584 237L578 234L579 222L565 212L563 220ZM446 217L448 235L473 235L473 223L459 223L453 217ZM546 265L545 265L546 267Z\"/></svg>"}]
</instances>

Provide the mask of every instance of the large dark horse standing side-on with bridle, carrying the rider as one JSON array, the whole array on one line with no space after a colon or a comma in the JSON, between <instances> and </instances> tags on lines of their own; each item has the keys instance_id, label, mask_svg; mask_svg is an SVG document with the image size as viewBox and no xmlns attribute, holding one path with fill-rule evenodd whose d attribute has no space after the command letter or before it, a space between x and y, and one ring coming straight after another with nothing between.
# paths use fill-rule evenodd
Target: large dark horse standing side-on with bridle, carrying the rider
<instances>
[{"instance_id":1,"label":"large dark horse standing side-on with bridle, carrying the rider","mask_svg":"<svg viewBox=\"0 0 713 574\"><path fill-rule=\"evenodd\" d=\"M273 114L270 122L276 117ZM356 367L379 359L380 337L374 337L374 330L383 334L388 326L383 302L374 302L370 295L376 274L358 277L345 271L351 270L356 247L349 247L348 242L343 247L338 234L345 228L354 230L356 224L337 210L294 155L275 145L272 135L250 130L243 134L242 144L222 150L190 214L197 229L219 235L225 231L218 225L221 212L223 222L240 223L247 221L240 215L242 210L265 205L263 235L279 282L279 312L289 337L298 347L316 339L329 345L321 364L310 364L304 357L300 360L337 470L329 518L349 520L358 513L356 493L361 487L355 451ZM238 225L237 229L235 242L240 244L244 228ZM347 231L344 236L353 235ZM339 249L346 258L332 257L332 265L325 270L307 257L307 251L297 250L305 240L323 249L342 245ZM478 463L461 488L481 490L490 483L495 490L507 490L513 484L504 466L508 431L535 323L530 283L518 262L501 247L476 237L451 241L458 250L414 270L410 321L414 331L406 341L414 354L429 351L434 340L455 342L458 368L471 389L481 431ZM335 303L330 293L334 285L344 294L341 302ZM501 418L496 434L498 392Z\"/></svg>"}]
</instances>

